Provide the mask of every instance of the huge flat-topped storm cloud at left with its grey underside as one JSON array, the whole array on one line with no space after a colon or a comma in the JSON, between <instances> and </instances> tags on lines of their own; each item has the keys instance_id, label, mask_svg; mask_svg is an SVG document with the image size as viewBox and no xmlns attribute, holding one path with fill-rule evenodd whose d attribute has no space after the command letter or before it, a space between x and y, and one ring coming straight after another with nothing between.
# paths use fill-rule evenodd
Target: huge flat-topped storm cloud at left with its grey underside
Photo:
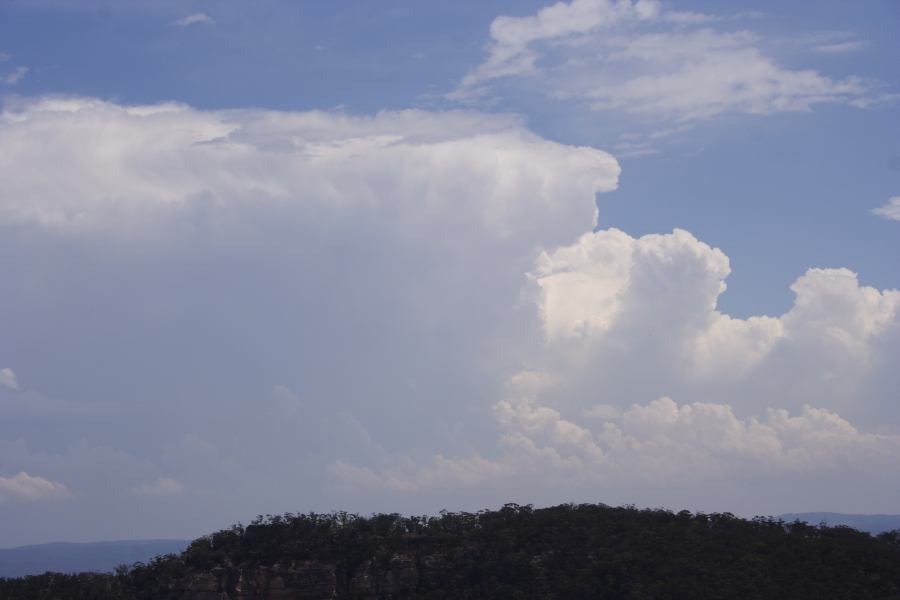
<instances>
[{"instance_id":1,"label":"huge flat-topped storm cloud at left with its grey underside","mask_svg":"<svg viewBox=\"0 0 900 600\"><path fill-rule=\"evenodd\" d=\"M484 385L471 365L506 360L488 356L489 344L512 330L538 247L590 230L594 195L614 189L618 173L607 153L542 139L504 115L7 103L0 227L23 254L12 263L0 253L18 290L4 296L0 349L47 332L57 343L39 359L45 368L86 381L94 371L76 368L83 355L71 349L90 340L92 364L166 391L110 391L118 376L104 378L104 416L79 416L78 427L57 418L49 433L20 410L14 439L38 450L0 457L70 474L110 502L165 473L191 491L180 503L239 488L217 509L222 519L310 496L327 508L337 500L323 500L319 484L333 459L378 461L380 441L447 437L440 414L449 422L459 398L479 397L465 390ZM46 312L34 310L41 302ZM72 306L95 317L72 318ZM122 336L148 334L167 341L122 352ZM434 389L437 365L458 383ZM247 391L251 380L284 383ZM395 413L420 422L401 428ZM51 438L90 446L42 456Z\"/></svg>"}]
</instances>

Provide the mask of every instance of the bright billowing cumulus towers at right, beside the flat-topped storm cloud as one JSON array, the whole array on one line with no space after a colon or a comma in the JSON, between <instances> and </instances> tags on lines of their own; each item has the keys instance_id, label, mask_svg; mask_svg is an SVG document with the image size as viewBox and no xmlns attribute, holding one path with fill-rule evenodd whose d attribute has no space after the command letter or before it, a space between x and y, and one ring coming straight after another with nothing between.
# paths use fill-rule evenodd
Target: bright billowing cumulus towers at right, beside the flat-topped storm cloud
<instances>
[{"instance_id":1,"label":"bright billowing cumulus towers at right, beside the flat-topped storm cloud","mask_svg":"<svg viewBox=\"0 0 900 600\"><path fill-rule=\"evenodd\" d=\"M790 311L739 319L716 306L729 272L723 252L682 230L597 231L542 253L530 278L548 345L530 356L541 368L511 376L494 405L495 450L426 464L399 456L364 473L343 464L333 475L420 492L499 485L527 495L539 480L652 498L686 486L694 503L688 487L727 478L720 495L734 505L748 481L783 497L791 478L812 490L853 472L856 490L871 493L900 475L900 435L863 431L833 408L865 415L869 402L890 402L890 384L861 392L900 351L900 292L860 286L847 269L810 269L791 287ZM635 401L659 389L704 400Z\"/></svg>"}]
</instances>

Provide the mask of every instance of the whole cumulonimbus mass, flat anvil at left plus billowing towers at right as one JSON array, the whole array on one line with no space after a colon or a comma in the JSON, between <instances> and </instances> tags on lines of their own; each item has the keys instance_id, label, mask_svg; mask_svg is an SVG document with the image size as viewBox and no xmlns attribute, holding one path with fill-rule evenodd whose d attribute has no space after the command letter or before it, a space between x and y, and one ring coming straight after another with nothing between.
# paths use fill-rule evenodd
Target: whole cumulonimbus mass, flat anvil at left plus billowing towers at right
<instances>
[{"instance_id":1,"label":"whole cumulonimbus mass, flat anvil at left plus billowing towers at right","mask_svg":"<svg viewBox=\"0 0 900 600\"><path fill-rule=\"evenodd\" d=\"M502 115L10 104L0 266L16 293L2 298L0 351L13 356L7 340L38 330L57 341L39 360L63 370L90 341L72 381L173 382L101 399L158 418L170 438L120 452L140 436L108 441L97 419L88 446L21 451L14 468L66 472L73 489L102 485L123 501L202 482L246 511L260 490L346 498L326 469L344 489L458 488L478 503L481 486L514 494L529 482L560 494L619 483L675 502L665 472L684 485L749 472L783 498L794 492L779 478L837 483L834 464L858 474L855 489L876 489L895 472L896 439L866 419L896 414L897 292L812 269L785 314L727 315L723 250L681 230L594 231L595 194L618 175L606 152ZM185 400L198 373L214 380L209 393ZM247 382L257 395L240 391ZM107 419L144 431L133 414ZM271 460L285 455L304 457L291 477ZM161 472L178 486L154 480Z\"/></svg>"}]
</instances>

